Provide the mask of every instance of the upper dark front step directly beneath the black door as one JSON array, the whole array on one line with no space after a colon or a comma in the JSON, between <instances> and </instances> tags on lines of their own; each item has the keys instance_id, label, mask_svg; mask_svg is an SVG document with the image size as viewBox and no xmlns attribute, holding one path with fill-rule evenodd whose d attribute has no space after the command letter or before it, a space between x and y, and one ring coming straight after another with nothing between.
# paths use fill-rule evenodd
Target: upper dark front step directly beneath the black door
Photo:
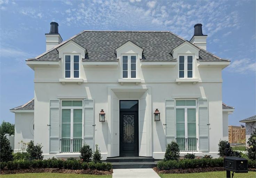
<instances>
[{"instance_id":1,"label":"upper dark front step directly beneath the black door","mask_svg":"<svg viewBox=\"0 0 256 178\"><path fill-rule=\"evenodd\" d=\"M142 157L142 156L134 156L134 157L108 157L106 162L154 162L153 157Z\"/></svg>"}]
</instances>

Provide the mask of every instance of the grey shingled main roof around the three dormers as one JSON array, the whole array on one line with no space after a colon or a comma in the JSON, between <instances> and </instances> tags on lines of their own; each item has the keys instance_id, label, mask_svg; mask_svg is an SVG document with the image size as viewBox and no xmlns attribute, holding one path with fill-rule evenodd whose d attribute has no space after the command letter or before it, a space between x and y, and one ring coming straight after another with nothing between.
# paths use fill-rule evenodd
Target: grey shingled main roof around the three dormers
<instances>
[{"instance_id":1,"label":"grey shingled main roof around the three dormers","mask_svg":"<svg viewBox=\"0 0 256 178\"><path fill-rule=\"evenodd\" d=\"M128 40L144 49L142 61L176 61L170 52L185 41L169 31L83 31L42 55L27 60L60 60L57 49L70 40L87 50L85 59L82 61L118 61L114 50ZM201 48L198 60L229 61L214 56Z\"/></svg>"}]
</instances>

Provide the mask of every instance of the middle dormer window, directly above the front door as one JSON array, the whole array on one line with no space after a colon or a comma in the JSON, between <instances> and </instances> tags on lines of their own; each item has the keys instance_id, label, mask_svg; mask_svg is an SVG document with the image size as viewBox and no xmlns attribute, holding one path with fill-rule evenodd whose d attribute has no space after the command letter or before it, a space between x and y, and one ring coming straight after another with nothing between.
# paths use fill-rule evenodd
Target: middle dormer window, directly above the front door
<instances>
[{"instance_id":1,"label":"middle dormer window, directly above the front door","mask_svg":"<svg viewBox=\"0 0 256 178\"><path fill-rule=\"evenodd\" d=\"M122 78L137 78L136 58L136 55L122 55Z\"/></svg>"}]
</instances>

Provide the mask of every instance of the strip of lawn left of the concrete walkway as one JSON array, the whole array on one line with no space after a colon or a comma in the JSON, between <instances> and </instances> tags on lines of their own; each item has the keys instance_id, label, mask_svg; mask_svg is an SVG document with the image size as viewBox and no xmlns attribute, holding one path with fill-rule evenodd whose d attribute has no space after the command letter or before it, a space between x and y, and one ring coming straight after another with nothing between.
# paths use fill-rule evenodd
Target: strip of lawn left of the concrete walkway
<instances>
[{"instance_id":1,"label":"strip of lawn left of the concrete walkway","mask_svg":"<svg viewBox=\"0 0 256 178\"><path fill-rule=\"evenodd\" d=\"M1 178L111 178L112 175L64 174L64 173L23 173L1 175Z\"/></svg>"}]
</instances>

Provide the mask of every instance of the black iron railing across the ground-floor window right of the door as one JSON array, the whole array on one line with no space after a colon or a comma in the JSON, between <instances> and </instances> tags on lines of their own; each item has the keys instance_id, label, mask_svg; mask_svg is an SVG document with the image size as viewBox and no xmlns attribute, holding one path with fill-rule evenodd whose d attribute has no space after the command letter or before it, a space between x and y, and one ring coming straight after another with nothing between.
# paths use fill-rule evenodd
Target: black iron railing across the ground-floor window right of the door
<instances>
[{"instance_id":1,"label":"black iron railing across the ground-floor window right of the door","mask_svg":"<svg viewBox=\"0 0 256 178\"><path fill-rule=\"evenodd\" d=\"M176 138L176 143L181 152L195 152L197 151L197 140L197 138Z\"/></svg>"}]
</instances>

